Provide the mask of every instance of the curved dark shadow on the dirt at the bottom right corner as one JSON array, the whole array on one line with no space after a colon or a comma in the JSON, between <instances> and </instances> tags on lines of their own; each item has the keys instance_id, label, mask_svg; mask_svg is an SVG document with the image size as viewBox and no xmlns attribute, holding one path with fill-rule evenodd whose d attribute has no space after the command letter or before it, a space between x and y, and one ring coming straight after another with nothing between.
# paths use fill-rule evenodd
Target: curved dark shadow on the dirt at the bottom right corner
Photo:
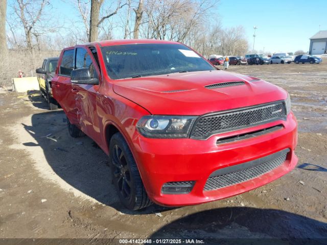
<instances>
[{"instance_id":1,"label":"curved dark shadow on the dirt at the bottom right corner","mask_svg":"<svg viewBox=\"0 0 327 245\"><path fill-rule=\"evenodd\" d=\"M218 208L179 218L149 238L203 239L205 244L317 245L327 244L327 224L281 210Z\"/></svg>"}]
</instances>

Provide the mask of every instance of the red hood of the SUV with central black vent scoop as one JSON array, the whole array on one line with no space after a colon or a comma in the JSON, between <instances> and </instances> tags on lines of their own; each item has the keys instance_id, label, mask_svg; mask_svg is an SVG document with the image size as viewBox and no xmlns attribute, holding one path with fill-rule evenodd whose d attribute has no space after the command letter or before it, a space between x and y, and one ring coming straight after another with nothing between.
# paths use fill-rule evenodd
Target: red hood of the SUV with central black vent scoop
<instances>
[{"instance_id":1,"label":"red hood of the SUV with central black vent scoop","mask_svg":"<svg viewBox=\"0 0 327 245\"><path fill-rule=\"evenodd\" d=\"M229 83L236 81L244 84ZM228 84L205 87L221 83ZM287 97L284 89L271 83L222 70L115 80L113 90L157 115L202 115Z\"/></svg>"}]
</instances>

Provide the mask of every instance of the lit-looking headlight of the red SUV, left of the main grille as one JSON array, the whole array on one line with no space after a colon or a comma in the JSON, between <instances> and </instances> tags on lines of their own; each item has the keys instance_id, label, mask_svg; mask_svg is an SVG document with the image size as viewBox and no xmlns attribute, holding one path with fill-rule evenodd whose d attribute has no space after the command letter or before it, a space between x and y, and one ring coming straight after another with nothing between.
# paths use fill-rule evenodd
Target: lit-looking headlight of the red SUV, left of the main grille
<instances>
[{"instance_id":1,"label":"lit-looking headlight of the red SUV, left of the main grille","mask_svg":"<svg viewBox=\"0 0 327 245\"><path fill-rule=\"evenodd\" d=\"M187 138L196 116L144 116L136 128L147 138Z\"/></svg>"}]
</instances>

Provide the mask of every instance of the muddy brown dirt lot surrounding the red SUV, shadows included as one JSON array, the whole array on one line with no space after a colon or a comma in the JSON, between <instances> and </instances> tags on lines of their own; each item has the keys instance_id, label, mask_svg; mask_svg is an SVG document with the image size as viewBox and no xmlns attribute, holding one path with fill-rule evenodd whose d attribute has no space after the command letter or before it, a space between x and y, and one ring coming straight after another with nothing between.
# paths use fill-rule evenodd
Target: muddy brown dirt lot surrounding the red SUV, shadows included
<instances>
[{"instance_id":1,"label":"muddy brown dirt lot surrounding the red SUV, shadows included","mask_svg":"<svg viewBox=\"0 0 327 245\"><path fill-rule=\"evenodd\" d=\"M315 244L327 244L327 60L229 66L228 71L289 91L299 126L298 165L281 179L236 197L139 212L122 207L107 156L87 136L68 135L62 110L47 110L37 92L0 90L0 244L12 241L1 238L87 238L80 244L119 243L119 238L205 243L326 238Z\"/></svg>"}]
</instances>

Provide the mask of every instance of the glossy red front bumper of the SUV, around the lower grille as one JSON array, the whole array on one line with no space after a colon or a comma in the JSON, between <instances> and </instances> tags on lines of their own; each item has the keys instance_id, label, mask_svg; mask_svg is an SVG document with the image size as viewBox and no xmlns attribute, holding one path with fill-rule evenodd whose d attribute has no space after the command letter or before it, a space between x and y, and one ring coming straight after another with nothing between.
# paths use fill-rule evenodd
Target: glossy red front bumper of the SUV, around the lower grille
<instances>
[{"instance_id":1,"label":"glossy red front bumper of the SUV, around the lower grille","mask_svg":"<svg viewBox=\"0 0 327 245\"><path fill-rule=\"evenodd\" d=\"M283 129L244 140L217 144L217 139L276 125ZM291 112L287 120L213 135L207 140L150 139L141 135L133 139L135 159L149 198L162 206L186 206L211 202L265 185L292 170L297 157L297 123ZM290 149L284 163L268 173L231 186L204 191L208 177L217 169L242 164ZM195 181L190 193L162 194L167 182Z\"/></svg>"}]
</instances>

